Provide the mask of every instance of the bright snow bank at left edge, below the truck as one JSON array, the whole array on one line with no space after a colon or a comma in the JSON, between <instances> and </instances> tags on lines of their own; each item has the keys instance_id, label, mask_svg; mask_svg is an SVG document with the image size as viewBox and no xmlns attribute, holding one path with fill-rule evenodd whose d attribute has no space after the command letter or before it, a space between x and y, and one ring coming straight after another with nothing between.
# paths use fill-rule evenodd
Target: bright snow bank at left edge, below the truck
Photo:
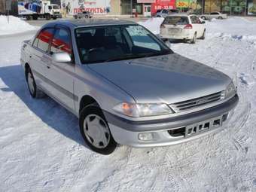
<instances>
[{"instance_id":1,"label":"bright snow bank at left edge, below the truck","mask_svg":"<svg viewBox=\"0 0 256 192\"><path fill-rule=\"evenodd\" d=\"M35 27L26 23L26 21L20 20L18 17L10 16L8 23L8 18L4 15L0 15L0 35L9 35L30 30L35 30Z\"/></svg>"}]
</instances>

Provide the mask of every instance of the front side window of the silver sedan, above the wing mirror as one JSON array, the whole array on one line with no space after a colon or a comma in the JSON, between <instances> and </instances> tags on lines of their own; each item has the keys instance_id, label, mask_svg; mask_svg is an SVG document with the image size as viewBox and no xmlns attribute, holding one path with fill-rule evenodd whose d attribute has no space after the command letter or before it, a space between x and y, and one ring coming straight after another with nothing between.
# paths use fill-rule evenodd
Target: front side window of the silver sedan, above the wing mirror
<instances>
[{"instance_id":1,"label":"front side window of the silver sedan, above the wing mirror","mask_svg":"<svg viewBox=\"0 0 256 192\"><path fill-rule=\"evenodd\" d=\"M50 53L66 52L72 56L72 43L69 32L66 29L56 29Z\"/></svg>"}]
</instances>

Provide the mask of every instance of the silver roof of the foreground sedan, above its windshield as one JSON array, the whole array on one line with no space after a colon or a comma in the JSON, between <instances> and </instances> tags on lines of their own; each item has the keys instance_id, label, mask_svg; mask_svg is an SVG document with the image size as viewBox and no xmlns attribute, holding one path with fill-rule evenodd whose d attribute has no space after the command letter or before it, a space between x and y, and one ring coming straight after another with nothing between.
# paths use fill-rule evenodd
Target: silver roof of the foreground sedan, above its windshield
<instances>
[{"instance_id":1,"label":"silver roof of the foreground sedan, above its windshield","mask_svg":"<svg viewBox=\"0 0 256 192\"><path fill-rule=\"evenodd\" d=\"M71 19L71 20L57 20L51 23L47 23L44 27L53 27L56 25L68 26L71 29L75 29L77 27L86 27L86 26L112 26L112 25L134 25L133 21L129 20L105 20L105 19Z\"/></svg>"}]
</instances>

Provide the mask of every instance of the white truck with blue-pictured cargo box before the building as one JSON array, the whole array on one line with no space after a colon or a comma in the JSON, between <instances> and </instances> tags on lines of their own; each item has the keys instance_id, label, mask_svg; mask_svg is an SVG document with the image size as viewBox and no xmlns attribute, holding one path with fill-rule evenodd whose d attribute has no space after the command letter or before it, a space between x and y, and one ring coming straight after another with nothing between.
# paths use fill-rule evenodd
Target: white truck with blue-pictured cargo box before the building
<instances>
[{"instance_id":1,"label":"white truck with blue-pictured cargo box before the building","mask_svg":"<svg viewBox=\"0 0 256 192\"><path fill-rule=\"evenodd\" d=\"M61 17L59 5L50 4L50 1L19 1L18 12L26 20L37 20L39 17L56 20Z\"/></svg>"}]
</instances>

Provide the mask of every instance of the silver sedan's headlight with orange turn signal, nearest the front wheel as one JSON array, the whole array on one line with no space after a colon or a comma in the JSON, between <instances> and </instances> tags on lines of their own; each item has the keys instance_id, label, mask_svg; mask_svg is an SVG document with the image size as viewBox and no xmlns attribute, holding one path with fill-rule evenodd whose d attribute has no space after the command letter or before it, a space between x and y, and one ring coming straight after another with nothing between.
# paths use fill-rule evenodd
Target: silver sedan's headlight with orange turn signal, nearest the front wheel
<instances>
[{"instance_id":1,"label":"silver sedan's headlight with orange turn signal, nearest the front wheel","mask_svg":"<svg viewBox=\"0 0 256 192\"><path fill-rule=\"evenodd\" d=\"M163 103L128 103L116 105L114 111L130 117L148 117L160 114L172 114L173 111Z\"/></svg>"}]
</instances>

